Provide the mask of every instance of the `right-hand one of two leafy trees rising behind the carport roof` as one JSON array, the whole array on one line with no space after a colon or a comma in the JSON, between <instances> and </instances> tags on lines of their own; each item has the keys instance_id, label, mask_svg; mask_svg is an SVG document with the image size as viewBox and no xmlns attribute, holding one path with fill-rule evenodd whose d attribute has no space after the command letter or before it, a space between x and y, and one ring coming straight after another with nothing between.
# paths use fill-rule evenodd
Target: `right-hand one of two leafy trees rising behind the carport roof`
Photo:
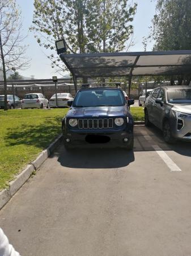
<instances>
[{"instance_id":1,"label":"right-hand one of two leafy trees rising behind the carport roof","mask_svg":"<svg viewBox=\"0 0 191 256\"><path fill-rule=\"evenodd\" d=\"M127 51L136 8L137 4L129 5L126 0L88 1L87 35L94 42L89 49L93 52Z\"/></svg>"}]
</instances>

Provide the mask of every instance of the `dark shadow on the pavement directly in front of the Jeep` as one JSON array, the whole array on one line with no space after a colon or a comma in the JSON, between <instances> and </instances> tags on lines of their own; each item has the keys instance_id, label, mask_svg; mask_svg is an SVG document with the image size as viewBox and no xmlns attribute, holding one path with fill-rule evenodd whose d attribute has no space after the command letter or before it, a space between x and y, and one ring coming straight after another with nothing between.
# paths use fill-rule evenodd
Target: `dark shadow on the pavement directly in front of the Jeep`
<instances>
[{"instance_id":1,"label":"dark shadow on the pavement directly in front of the Jeep","mask_svg":"<svg viewBox=\"0 0 191 256\"><path fill-rule=\"evenodd\" d=\"M134 152L123 148L74 148L66 151L64 146L54 155L64 167L70 168L120 168L134 162Z\"/></svg>"}]
</instances>

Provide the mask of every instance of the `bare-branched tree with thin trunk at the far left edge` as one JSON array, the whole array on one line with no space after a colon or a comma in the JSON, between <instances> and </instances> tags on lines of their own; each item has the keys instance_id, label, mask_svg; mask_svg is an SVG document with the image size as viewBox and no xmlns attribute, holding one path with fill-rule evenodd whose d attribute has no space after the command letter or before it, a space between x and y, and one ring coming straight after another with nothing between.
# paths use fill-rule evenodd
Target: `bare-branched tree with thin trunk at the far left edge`
<instances>
[{"instance_id":1,"label":"bare-branched tree with thin trunk at the far left edge","mask_svg":"<svg viewBox=\"0 0 191 256\"><path fill-rule=\"evenodd\" d=\"M21 46L23 37L20 35L22 21L15 0L0 2L0 69L3 72L5 87L5 108L7 110L7 78L6 72L28 67L29 60L25 56L26 47ZM2 68L1 68L2 67Z\"/></svg>"}]
</instances>

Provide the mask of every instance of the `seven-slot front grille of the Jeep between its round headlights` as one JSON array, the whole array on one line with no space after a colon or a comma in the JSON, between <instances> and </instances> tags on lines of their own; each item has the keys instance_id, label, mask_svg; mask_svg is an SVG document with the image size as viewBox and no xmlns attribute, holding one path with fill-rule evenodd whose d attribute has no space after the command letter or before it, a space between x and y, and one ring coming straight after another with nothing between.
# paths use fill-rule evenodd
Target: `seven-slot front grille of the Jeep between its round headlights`
<instances>
[{"instance_id":1,"label":"seven-slot front grille of the Jeep between its round headlights","mask_svg":"<svg viewBox=\"0 0 191 256\"><path fill-rule=\"evenodd\" d=\"M112 118L78 119L79 129L110 129L113 128Z\"/></svg>"}]
</instances>

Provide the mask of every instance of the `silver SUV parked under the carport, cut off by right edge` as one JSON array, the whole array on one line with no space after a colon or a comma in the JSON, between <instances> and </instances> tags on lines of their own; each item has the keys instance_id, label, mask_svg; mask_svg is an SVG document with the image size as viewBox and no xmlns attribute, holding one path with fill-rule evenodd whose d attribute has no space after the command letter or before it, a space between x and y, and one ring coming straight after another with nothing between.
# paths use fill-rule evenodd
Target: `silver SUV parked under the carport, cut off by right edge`
<instances>
[{"instance_id":1,"label":"silver SUV parked under the carport, cut off by right edge","mask_svg":"<svg viewBox=\"0 0 191 256\"><path fill-rule=\"evenodd\" d=\"M164 86L156 88L145 102L145 125L154 124L163 131L164 140L191 141L191 88Z\"/></svg>"}]
</instances>

